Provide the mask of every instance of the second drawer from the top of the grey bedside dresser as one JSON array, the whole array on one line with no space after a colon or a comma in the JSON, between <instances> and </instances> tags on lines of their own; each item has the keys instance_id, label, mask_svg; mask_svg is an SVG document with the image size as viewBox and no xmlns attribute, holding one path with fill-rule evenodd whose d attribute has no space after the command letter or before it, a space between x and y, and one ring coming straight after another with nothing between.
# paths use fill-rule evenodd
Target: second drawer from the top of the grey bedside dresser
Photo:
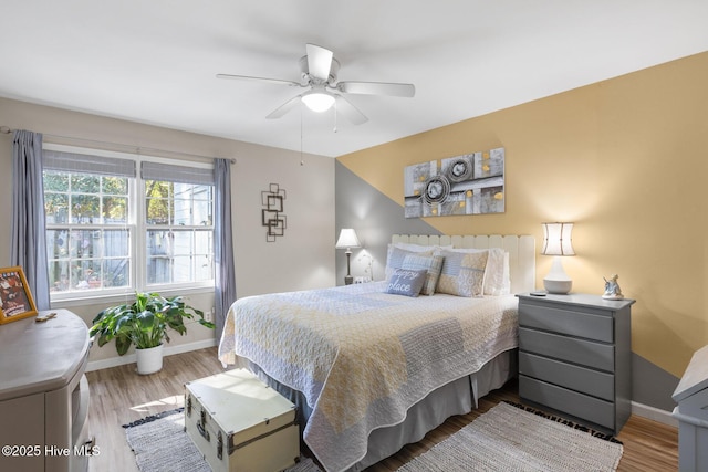
<instances>
[{"instance_id":1,"label":"second drawer from the top of the grey bedside dresser","mask_svg":"<svg viewBox=\"0 0 708 472\"><path fill-rule=\"evenodd\" d=\"M519 328L519 349L614 373L613 345Z\"/></svg>"}]
</instances>

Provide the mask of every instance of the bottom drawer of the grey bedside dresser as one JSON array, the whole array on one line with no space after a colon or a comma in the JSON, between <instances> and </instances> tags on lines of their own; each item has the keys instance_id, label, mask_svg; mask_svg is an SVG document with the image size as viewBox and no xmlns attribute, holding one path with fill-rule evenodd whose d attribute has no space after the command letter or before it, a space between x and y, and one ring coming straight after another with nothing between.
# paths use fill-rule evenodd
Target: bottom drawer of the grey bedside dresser
<instances>
[{"instance_id":1,"label":"bottom drawer of the grey bedside dresser","mask_svg":"<svg viewBox=\"0 0 708 472\"><path fill-rule=\"evenodd\" d=\"M615 407L610 401L519 376L519 397L615 430Z\"/></svg>"}]
</instances>

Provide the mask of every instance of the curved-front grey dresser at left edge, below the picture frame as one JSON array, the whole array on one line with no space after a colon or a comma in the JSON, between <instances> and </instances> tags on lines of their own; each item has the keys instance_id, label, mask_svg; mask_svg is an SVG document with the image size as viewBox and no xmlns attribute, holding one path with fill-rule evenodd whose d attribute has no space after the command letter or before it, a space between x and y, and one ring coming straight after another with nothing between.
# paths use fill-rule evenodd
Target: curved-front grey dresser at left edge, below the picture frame
<instances>
[{"instance_id":1,"label":"curved-front grey dresser at left edge, below the picture frame","mask_svg":"<svg viewBox=\"0 0 708 472\"><path fill-rule=\"evenodd\" d=\"M0 326L0 471L86 471L95 451L84 376L88 328L66 310L54 312L43 323Z\"/></svg>"}]
</instances>

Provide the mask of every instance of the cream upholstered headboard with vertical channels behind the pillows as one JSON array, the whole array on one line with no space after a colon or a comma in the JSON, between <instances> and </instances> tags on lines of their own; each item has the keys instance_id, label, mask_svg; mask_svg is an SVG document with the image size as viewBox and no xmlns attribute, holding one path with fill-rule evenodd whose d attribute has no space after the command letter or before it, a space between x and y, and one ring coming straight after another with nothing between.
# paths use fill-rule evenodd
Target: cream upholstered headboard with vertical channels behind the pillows
<instances>
[{"instance_id":1,"label":"cream upholstered headboard with vertical channels behind the pillows","mask_svg":"<svg viewBox=\"0 0 708 472\"><path fill-rule=\"evenodd\" d=\"M511 293L535 290L535 239L528 234L491 235L418 235L394 234L391 242L455 248L501 248L509 253Z\"/></svg>"}]
</instances>

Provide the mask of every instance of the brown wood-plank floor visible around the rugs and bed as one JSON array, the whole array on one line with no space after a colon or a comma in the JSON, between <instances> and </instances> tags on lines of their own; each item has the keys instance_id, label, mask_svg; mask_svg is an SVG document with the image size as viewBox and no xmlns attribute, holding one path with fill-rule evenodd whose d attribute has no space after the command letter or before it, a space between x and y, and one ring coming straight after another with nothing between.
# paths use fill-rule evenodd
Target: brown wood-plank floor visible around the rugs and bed
<instances>
[{"instance_id":1,"label":"brown wood-plank floor visible around the rugs and bed","mask_svg":"<svg viewBox=\"0 0 708 472\"><path fill-rule=\"evenodd\" d=\"M90 471L137 472L122 424L181 407L185 382L222 370L216 356L216 348L168 356L165 357L163 370L149 376L138 376L135 365L87 373L91 386L90 426L100 448L100 454L91 458ZM423 441L406 445L367 471L397 470L501 400L519 401L514 381L481 399L479 409L448 419ZM633 416L617 438L624 442L618 471L678 470L676 428Z\"/></svg>"}]
</instances>

